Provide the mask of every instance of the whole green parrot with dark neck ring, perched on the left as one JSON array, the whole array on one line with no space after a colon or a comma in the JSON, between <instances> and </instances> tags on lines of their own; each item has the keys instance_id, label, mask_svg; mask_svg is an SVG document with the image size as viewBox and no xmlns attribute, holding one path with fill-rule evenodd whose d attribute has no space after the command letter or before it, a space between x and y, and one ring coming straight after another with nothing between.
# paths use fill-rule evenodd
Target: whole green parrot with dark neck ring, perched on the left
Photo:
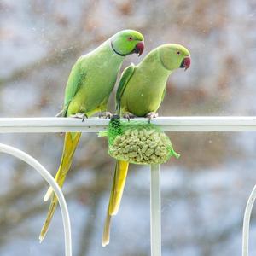
<instances>
[{"instance_id":1,"label":"whole green parrot with dark neck ring, perched on the left","mask_svg":"<svg viewBox=\"0 0 256 256\"><path fill-rule=\"evenodd\" d=\"M140 32L124 30L113 35L89 54L79 57L67 80L64 106L58 116L77 117L83 120L84 117L88 118L97 112L108 116L108 97L116 83L122 62L127 55L142 55L143 40ZM67 132L65 135L61 164L55 176L55 181L60 187L70 169L80 137L81 132ZM44 201L48 201L50 197L49 212L39 236L40 241L44 240L58 204L52 188L48 189Z\"/></svg>"}]
</instances>

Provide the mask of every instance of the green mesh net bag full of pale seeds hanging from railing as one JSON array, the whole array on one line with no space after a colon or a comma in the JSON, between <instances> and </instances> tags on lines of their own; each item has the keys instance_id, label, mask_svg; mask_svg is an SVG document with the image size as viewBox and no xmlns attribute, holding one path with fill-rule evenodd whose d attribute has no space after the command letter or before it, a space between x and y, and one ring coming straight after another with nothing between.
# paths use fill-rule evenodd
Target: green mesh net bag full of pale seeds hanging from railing
<instances>
[{"instance_id":1,"label":"green mesh net bag full of pale seeds hanging from railing","mask_svg":"<svg viewBox=\"0 0 256 256\"><path fill-rule=\"evenodd\" d=\"M145 121L120 121L111 119L108 131L100 136L108 136L108 154L117 160L134 164L163 164L171 156L179 158L165 132Z\"/></svg>"}]
</instances>

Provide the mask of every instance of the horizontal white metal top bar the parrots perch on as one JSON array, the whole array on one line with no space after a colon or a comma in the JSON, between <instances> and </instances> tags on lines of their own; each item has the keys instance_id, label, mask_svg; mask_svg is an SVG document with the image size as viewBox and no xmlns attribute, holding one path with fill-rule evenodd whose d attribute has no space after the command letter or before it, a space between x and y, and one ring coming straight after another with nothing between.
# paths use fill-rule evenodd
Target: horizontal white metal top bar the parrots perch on
<instances>
[{"instance_id":1,"label":"horizontal white metal top bar the parrots perch on","mask_svg":"<svg viewBox=\"0 0 256 256\"><path fill-rule=\"evenodd\" d=\"M148 119L136 119L148 122ZM0 118L0 132L98 132L108 119ZM163 131L256 131L256 116L160 117L152 120Z\"/></svg>"}]
</instances>

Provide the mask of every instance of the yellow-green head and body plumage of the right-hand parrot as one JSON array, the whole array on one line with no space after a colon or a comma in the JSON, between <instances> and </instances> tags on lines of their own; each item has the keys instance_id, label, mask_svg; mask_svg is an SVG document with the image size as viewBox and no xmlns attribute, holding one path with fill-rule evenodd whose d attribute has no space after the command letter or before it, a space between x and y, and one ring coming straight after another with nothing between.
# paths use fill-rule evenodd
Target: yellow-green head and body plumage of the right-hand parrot
<instances>
[{"instance_id":1,"label":"yellow-green head and body plumage of the right-hand parrot","mask_svg":"<svg viewBox=\"0 0 256 256\"><path fill-rule=\"evenodd\" d=\"M129 80L122 90L118 89L117 104L120 103L121 112L138 117L156 112L164 98L168 77L188 56L188 49L179 44L164 44L152 50L132 73L130 71ZM125 73L129 73L129 67L122 78Z\"/></svg>"}]
</instances>

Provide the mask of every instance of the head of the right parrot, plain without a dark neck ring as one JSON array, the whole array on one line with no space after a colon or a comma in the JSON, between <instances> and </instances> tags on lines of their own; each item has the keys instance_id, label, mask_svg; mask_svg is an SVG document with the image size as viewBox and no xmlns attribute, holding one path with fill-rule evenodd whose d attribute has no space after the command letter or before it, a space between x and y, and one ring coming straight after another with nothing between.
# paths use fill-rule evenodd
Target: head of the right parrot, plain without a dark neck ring
<instances>
[{"instance_id":1,"label":"head of the right parrot, plain without a dark neck ring","mask_svg":"<svg viewBox=\"0 0 256 256\"><path fill-rule=\"evenodd\" d=\"M160 61L166 69L173 70L179 67L187 70L190 67L189 50L180 44L163 44L159 48Z\"/></svg>"}]
</instances>

